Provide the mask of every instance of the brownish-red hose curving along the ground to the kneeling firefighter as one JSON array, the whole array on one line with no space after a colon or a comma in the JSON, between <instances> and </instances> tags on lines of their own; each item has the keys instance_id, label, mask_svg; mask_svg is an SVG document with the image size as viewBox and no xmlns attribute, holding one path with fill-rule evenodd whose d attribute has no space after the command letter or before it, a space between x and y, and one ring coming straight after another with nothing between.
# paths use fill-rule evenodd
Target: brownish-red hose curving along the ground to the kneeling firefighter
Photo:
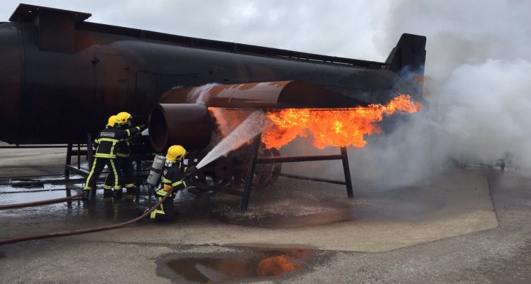
<instances>
[{"instance_id":1,"label":"brownish-red hose curving along the ground to the kneeling firefighter","mask_svg":"<svg viewBox=\"0 0 531 284\"><path fill-rule=\"evenodd\" d=\"M143 219L143 217L146 217L148 216L148 214L151 214L151 212L153 212L155 208L159 207L160 204L162 204L168 198L168 196L171 195L172 192L173 192L173 189L168 191L162 200L159 200L157 204L153 205L153 207L148 209L146 212L136 217L135 219L129 220L124 223L119 223L119 224L114 224L114 225L109 225L109 226L98 226L94 228L79 229L79 230L73 230L73 231L59 231L59 232L49 233L49 234L40 234L40 235L33 235L33 236L18 236L16 238L0 239L0 245L16 243L18 241L28 241L32 239L51 238L53 236L70 236L70 235L75 235L75 234L91 233L93 231L105 231L105 230L120 228L122 226L127 226L129 224L133 224L134 222L140 221L141 219Z\"/></svg>"}]
</instances>

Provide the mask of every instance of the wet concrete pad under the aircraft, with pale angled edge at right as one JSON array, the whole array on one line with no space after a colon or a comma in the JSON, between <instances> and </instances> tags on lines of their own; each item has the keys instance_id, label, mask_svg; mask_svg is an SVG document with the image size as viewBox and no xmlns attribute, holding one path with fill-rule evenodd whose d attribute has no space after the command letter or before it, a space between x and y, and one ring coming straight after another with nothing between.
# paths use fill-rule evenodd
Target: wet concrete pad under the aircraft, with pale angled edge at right
<instances>
[{"instance_id":1,"label":"wet concrete pad under the aircraft, with pale angled edge at right","mask_svg":"<svg viewBox=\"0 0 531 284\"><path fill-rule=\"evenodd\" d=\"M148 191L148 187L141 187L142 197L137 202L103 198L102 190L98 190L89 202L2 210L0 225L10 229L0 236L27 235L28 227L32 234L42 234L125 222L136 217L136 206L154 204L155 200L148 201ZM241 197L195 195L185 190L176 197L180 215L167 224L155 224L164 231L163 237L151 234L154 224L74 237L155 243L179 239L179 244L254 247L306 244L318 249L386 251L498 226L480 170L451 170L444 178L425 184L383 192L364 188L356 194L356 199L349 200L340 185L280 178L272 187L254 190L248 211L240 212ZM13 217L18 217L14 225Z\"/></svg>"}]
</instances>

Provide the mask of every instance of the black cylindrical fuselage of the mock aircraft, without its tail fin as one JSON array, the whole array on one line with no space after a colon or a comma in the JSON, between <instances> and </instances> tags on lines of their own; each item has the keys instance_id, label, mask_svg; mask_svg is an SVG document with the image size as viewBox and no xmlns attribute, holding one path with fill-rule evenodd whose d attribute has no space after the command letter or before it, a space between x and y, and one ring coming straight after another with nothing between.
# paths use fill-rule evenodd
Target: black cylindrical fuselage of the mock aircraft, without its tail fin
<instances>
[{"instance_id":1,"label":"black cylindrical fuselage of the mock aircraft, without its tail fin","mask_svg":"<svg viewBox=\"0 0 531 284\"><path fill-rule=\"evenodd\" d=\"M173 87L300 80L382 104L395 91L419 92L385 63L65 20L45 9L39 13L40 18L0 23L0 141L85 143L87 132L101 130L119 111L131 112L137 123L147 121L158 97Z\"/></svg>"}]
</instances>

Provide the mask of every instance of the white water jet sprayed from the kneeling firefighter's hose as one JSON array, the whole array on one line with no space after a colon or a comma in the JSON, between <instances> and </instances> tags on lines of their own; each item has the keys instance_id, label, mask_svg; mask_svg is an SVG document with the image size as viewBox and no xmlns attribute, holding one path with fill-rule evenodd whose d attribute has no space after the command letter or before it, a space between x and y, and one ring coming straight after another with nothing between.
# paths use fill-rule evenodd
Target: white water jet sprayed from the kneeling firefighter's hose
<instances>
[{"instance_id":1,"label":"white water jet sprayed from the kneeling firefighter's hose","mask_svg":"<svg viewBox=\"0 0 531 284\"><path fill-rule=\"evenodd\" d=\"M243 121L234 131L228 136L223 138L212 151L207 153L204 158L197 163L197 168L202 168L204 165L212 162L213 160L225 155L230 151L239 148L243 143L247 143L258 133L261 133L265 128L265 114L263 111L254 111L250 114L245 121Z\"/></svg>"}]
</instances>

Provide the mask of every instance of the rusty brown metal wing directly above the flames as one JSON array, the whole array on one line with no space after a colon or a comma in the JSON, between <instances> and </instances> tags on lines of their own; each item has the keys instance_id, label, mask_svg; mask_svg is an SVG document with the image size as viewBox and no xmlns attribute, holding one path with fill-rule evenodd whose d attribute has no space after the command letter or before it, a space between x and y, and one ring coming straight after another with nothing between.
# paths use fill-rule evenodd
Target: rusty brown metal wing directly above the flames
<instances>
[{"instance_id":1,"label":"rusty brown metal wing directly above the flames","mask_svg":"<svg viewBox=\"0 0 531 284\"><path fill-rule=\"evenodd\" d=\"M182 103L194 99L201 87L172 89L160 102ZM367 103L300 81L223 84L202 94L207 107L241 109L304 109L366 107Z\"/></svg>"}]
</instances>

